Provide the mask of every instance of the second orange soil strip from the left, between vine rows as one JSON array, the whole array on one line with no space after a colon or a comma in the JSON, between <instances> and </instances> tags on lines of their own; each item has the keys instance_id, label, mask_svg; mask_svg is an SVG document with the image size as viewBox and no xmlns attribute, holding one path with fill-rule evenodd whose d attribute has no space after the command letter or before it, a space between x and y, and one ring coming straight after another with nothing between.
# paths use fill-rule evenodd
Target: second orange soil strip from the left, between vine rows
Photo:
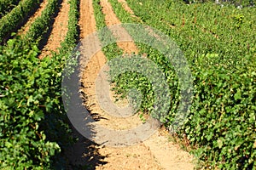
<instances>
[{"instance_id":1,"label":"second orange soil strip from the left, between vine rows","mask_svg":"<svg viewBox=\"0 0 256 170\"><path fill-rule=\"evenodd\" d=\"M63 0L61 3L61 9L55 18L53 29L49 35L48 41L42 49L42 54L39 55L39 59L51 54L51 51L56 51L61 47L61 42L64 41L68 31L68 12L69 3L68 0Z\"/></svg>"}]
</instances>

